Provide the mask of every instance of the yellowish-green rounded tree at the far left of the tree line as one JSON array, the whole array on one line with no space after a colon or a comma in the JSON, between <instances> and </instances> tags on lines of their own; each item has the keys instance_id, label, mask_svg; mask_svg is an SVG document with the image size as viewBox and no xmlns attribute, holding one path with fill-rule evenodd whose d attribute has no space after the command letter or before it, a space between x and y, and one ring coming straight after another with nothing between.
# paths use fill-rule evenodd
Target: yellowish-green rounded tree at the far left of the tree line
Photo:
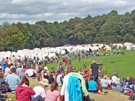
<instances>
[{"instance_id":1,"label":"yellowish-green rounded tree at the far left of the tree line","mask_svg":"<svg viewBox=\"0 0 135 101\"><path fill-rule=\"evenodd\" d=\"M0 47L3 47L2 50L16 51L23 49L25 44L24 35L16 26L11 26L1 33Z\"/></svg>"}]
</instances>

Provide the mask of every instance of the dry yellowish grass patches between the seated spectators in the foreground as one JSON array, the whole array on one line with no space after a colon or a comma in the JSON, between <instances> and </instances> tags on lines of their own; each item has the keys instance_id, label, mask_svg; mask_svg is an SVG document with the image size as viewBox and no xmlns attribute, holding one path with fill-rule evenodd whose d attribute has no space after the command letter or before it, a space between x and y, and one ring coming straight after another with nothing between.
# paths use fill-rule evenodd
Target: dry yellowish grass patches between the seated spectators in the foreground
<instances>
[{"instance_id":1,"label":"dry yellowish grass patches between the seated spectators in the foreground","mask_svg":"<svg viewBox=\"0 0 135 101\"><path fill-rule=\"evenodd\" d=\"M39 83L36 82L36 79L30 78L29 80L30 80L31 88L39 85ZM47 87L46 91L48 89L50 89L50 87ZM59 88L59 91L60 90L61 90L61 88ZM94 98L95 101L131 101L131 100L128 100L129 96L124 95L123 93L116 92L113 90L103 90L103 92L104 91L108 91L107 95L89 93L89 96L90 96L90 98ZM13 94L13 93L8 93L8 98L11 98L11 101L16 101L15 94Z\"/></svg>"}]
</instances>

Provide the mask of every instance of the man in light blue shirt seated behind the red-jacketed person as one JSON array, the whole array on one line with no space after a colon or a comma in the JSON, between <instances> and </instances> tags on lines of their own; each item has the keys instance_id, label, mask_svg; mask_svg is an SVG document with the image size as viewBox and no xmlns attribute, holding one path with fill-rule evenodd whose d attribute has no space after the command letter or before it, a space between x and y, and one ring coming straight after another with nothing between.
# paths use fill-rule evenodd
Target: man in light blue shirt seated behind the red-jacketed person
<instances>
[{"instance_id":1,"label":"man in light blue shirt seated behind the red-jacketed person","mask_svg":"<svg viewBox=\"0 0 135 101\"><path fill-rule=\"evenodd\" d=\"M20 83L20 78L19 76L17 76L15 74L16 72L16 69L15 68L11 68L11 74L8 74L7 77L6 77L6 82L9 84L9 91L15 91L16 90L16 87L19 85Z\"/></svg>"}]
</instances>

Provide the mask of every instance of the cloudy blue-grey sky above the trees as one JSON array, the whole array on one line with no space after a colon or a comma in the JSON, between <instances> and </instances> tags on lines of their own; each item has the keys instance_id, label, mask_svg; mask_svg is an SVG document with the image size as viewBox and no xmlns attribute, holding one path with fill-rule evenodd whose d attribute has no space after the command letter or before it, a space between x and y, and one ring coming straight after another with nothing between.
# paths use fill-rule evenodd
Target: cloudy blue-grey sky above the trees
<instances>
[{"instance_id":1,"label":"cloudy blue-grey sky above the trees","mask_svg":"<svg viewBox=\"0 0 135 101\"><path fill-rule=\"evenodd\" d=\"M63 22L75 17L107 14L112 10L125 14L134 9L135 0L0 0L0 25L4 21Z\"/></svg>"}]
</instances>

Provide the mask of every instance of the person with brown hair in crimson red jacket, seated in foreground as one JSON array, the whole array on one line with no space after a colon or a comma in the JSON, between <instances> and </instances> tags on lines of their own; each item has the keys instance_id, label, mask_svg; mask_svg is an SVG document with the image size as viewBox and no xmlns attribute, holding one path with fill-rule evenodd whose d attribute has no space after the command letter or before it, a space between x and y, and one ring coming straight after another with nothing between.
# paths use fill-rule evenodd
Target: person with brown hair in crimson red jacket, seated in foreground
<instances>
[{"instance_id":1,"label":"person with brown hair in crimson red jacket, seated in foreground","mask_svg":"<svg viewBox=\"0 0 135 101\"><path fill-rule=\"evenodd\" d=\"M26 77L23 77L20 85L16 88L15 98L17 101L31 101L31 95L35 95L35 91L29 88L29 80Z\"/></svg>"}]
</instances>

